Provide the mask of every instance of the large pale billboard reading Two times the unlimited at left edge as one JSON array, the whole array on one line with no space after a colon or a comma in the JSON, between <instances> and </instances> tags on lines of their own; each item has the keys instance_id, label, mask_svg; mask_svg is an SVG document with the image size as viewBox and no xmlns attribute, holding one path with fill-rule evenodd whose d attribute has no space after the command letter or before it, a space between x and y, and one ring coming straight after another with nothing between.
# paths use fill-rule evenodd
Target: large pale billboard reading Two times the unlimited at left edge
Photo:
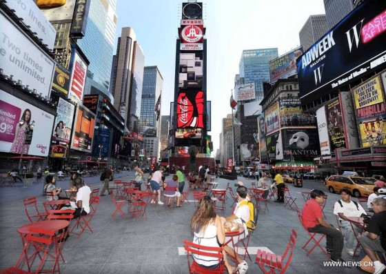
<instances>
[{"instance_id":1,"label":"large pale billboard reading Two times the unlimited at left edge","mask_svg":"<svg viewBox=\"0 0 386 274\"><path fill-rule=\"evenodd\" d=\"M55 63L17 26L0 14L0 68L3 75L13 75L15 81L28 85L37 94L50 97Z\"/></svg>"}]
</instances>

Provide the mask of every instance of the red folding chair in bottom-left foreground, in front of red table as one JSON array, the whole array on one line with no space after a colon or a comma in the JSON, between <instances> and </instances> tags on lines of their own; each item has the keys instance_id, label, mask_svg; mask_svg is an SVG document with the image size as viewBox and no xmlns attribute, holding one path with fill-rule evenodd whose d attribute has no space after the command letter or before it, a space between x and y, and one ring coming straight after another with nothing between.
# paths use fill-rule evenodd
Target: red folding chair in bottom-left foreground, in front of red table
<instances>
[{"instance_id":1,"label":"red folding chair in bottom-left foreground, in front of red table","mask_svg":"<svg viewBox=\"0 0 386 274\"><path fill-rule=\"evenodd\" d=\"M1 271L1 273L60 273L59 257L58 255L50 253L50 246L53 239L54 231L31 227L30 234L26 235L26 243L17 263L15 266ZM48 260L49 257L52 257L53 260ZM50 265L48 262L53 262L52 269L49 271L48 269L43 269L43 266L46 268ZM27 271L24 271L23 268L26 268Z\"/></svg>"}]
</instances>

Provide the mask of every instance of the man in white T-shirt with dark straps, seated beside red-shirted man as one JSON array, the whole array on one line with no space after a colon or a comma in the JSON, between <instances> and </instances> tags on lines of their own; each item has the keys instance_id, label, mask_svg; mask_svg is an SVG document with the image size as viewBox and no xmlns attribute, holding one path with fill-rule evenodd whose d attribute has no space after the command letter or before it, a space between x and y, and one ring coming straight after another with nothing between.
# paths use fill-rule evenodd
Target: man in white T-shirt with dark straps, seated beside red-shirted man
<instances>
[{"instance_id":1,"label":"man in white T-shirt with dark straps, seated beside red-shirted man","mask_svg":"<svg viewBox=\"0 0 386 274\"><path fill-rule=\"evenodd\" d=\"M342 234L345 237L346 251L349 255L354 255L355 235L353 228L359 233L359 228L352 226L347 217L360 217L366 215L363 207L355 201L350 200L351 191L349 189L341 189L341 200L334 205L334 214L339 216Z\"/></svg>"}]
</instances>

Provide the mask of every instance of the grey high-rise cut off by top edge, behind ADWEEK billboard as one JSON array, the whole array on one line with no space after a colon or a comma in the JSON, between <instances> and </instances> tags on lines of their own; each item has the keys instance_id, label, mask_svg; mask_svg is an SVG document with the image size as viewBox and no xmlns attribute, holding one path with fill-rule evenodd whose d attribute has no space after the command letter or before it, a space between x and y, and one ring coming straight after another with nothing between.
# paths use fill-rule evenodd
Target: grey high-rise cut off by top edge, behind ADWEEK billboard
<instances>
[{"instance_id":1,"label":"grey high-rise cut off by top edge, behind ADWEEK billboard","mask_svg":"<svg viewBox=\"0 0 386 274\"><path fill-rule=\"evenodd\" d=\"M354 10L352 0L324 0L327 17L327 27L330 29L339 23L349 12Z\"/></svg>"}]
</instances>

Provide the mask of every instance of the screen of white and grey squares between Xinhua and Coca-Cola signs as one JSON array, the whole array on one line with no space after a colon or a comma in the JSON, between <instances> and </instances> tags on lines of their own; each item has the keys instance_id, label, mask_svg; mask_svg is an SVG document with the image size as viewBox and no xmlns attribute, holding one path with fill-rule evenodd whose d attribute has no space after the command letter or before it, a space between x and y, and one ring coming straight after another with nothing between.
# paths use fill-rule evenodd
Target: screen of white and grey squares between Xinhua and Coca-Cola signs
<instances>
[{"instance_id":1,"label":"screen of white and grey squares between Xinhua and Coca-Cola signs","mask_svg":"<svg viewBox=\"0 0 386 274\"><path fill-rule=\"evenodd\" d=\"M203 52L180 53L179 88L203 87Z\"/></svg>"}]
</instances>

